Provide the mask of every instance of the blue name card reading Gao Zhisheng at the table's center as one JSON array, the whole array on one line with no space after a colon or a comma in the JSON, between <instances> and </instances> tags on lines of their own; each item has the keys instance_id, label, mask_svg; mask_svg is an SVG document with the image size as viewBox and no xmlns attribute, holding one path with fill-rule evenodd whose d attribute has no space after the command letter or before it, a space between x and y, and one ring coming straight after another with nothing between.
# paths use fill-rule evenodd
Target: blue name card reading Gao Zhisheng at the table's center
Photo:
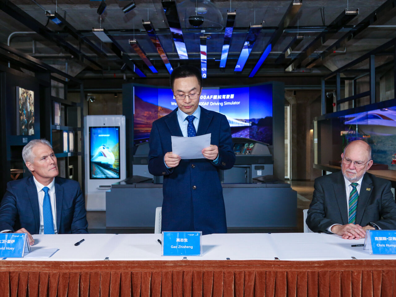
<instances>
[{"instance_id":1,"label":"blue name card reading Gao Zhisheng at the table's center","mask_svg":"<svg viewBox=\"0 0 396 297\"><path fill-rule=\"evenodd\" d=\"M163 256L202 256L202 232L162 232Z\"/></svg>"}]
</instances>

